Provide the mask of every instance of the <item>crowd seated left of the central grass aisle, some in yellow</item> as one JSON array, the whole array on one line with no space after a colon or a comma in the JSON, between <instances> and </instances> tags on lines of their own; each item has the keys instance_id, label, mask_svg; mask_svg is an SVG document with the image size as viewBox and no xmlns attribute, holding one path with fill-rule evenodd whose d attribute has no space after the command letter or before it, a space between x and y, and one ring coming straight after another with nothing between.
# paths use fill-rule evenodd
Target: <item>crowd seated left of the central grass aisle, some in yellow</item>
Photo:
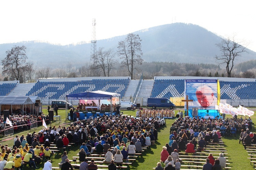
<instances>
[{"instance_id":1,"label":"crowd seated left of the central grass aisle, some in yellow","mask_svg":"<svg viewBox=\"0 0 256 170\"><path fill-rule=\"evenodd\" d=\"M16 115L9 118L13 124L18 123L16 118L29 124L28 121L42 117ZM47 118L45 117L45 119ZM69 163L67 156L69 143L80 146L79 160L83 161L81 165L86 165L85 163L88 162L86 156L91 153L105 153L104 161L109 163L110 167L114 167L115 164L122 166L124 160L128 161L129 155L134 156L137 151L142 151L143 146L150 147L151 141L157 140L157 129L161 125L163 123L159 118L108 117L103 115L97 119L73 122L68 126L59 125L43 128L38 133L16 136L12 149L9 149L8 146L2 146L0 170L3 170L1 165L4 165L3 168L13 165L22 169L22 160L29 167L37 168L37 163L48 160L51 156L51 142L55 143L58 149L64 149L60 162L63 170ZM22 128L25 127L22 126ZM114 149L112 150L111 147ZM92 160L91 163L93 163ZM46 161L44 169L50 166L51 161ZM87 169L82 168L82 170Z\"/></svg>"}]
</instances>

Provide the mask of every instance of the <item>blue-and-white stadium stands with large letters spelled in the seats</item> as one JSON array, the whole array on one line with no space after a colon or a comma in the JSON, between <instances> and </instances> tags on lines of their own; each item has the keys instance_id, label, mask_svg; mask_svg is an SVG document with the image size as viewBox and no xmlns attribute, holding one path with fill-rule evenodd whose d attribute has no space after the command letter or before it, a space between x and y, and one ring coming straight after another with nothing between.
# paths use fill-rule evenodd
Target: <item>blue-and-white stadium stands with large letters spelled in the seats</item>
<instances>
[{"instance_id":1,"label":"blue-and-white stadium stands with large letters spelled in the seats","mask_svg":"<svg viewBox=\"0 0 256 170\"><path fill-rule=\"evenodd\" d=\"M256 79L227 77L154 77L153 80L131 80L130 77L81 77L38 79L36 83L0 82L1 96L38 96L43 105L65 100L67 94L87 91L119 93L122 100L146 106L148 97L182 98L185 79L218 79L221 101L232 106L256 106ZM71 104L77 101L69 101ZM175 102L183 106L182 102Z\"/></svg>"}]
</instances>

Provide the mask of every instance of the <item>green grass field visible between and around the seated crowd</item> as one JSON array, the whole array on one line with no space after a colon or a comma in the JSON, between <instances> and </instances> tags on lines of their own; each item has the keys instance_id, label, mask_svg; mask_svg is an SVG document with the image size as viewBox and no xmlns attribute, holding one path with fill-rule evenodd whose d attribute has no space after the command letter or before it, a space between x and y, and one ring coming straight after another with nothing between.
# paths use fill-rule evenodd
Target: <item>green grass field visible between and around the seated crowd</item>
<instances>
[{"instance_id":1,"label":"green grass field visible between and around the seated crowd","mask_svg":"<svg viewBox=\"0 0 256 170\"><path fill-rule=\"evenodd\" d=\"M43 112L45 112L46 109L43 109ZM133 115L135 116L136 111L127 111L127 110L122 110L124 114L128 115ZM177 112L177 110L175 110ZM59 124L63 123L66 119L65 116L65 110L58 110L59 115L61 115L62 121L61 122L53 122L52 126L58 126ZM226 116L227 117L227 116ZM253 122L256 122L256 117L252 117ZM158 130L158 140L155 142L155 145L152 146L150 149L145 151L145 154L143 155L143 158L140 158L139 161L137 160L136 163L134 164L134 169L138 170L144 170L144 169L152 169L153 167L156 167L157 162L160 160L160 152L162 151L162 146L164 146L166 143L169 142L169 129L171 124L175 121L167 119L166 120L166 125L161 127ZM36 129L33 130L27 130L23 131L15 135L24 135L26 136L27 133L32 133L33 131L38 132L39 130L42 129L43 126L40 126ZM253 128L252 132L255 132L255 128ZM3 138L3 137L0 137ZM253 170L253 165L250 165L250 160L247 159L248 156L247 152L243 149L242 144L239 144L239 135L237 137L226 137L223 138L225 148L227 148L227 153L228 153L228 162L230 163L230 167L233 170ZM9 146L13 145L13 140L6 141L5 143L2 144L8 144ZM79 147L73 147L70 152L68 152L68 158L72 159L72 156L76 156L76 154L79 152ZM61 161L61 154L57 155L56 157L54 156L52 164L53 167L58 167L58 163ZM41 163L38 167L40 169L43 169L43 164ZM29 169L28 166L25 168Z\"/></svg>"}]
</instances>

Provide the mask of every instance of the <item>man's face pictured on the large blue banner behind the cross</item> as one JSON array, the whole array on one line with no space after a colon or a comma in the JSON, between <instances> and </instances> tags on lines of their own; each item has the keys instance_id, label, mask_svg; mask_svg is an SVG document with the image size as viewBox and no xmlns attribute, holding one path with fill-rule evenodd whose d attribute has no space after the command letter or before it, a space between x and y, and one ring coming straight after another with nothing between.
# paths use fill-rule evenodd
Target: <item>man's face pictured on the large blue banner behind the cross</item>
<instances>
[{"instance_id":1,"label":"man's face pictured on the large blue banner behind the cross","mask_svg":"<svg viewBox=\"0 0 256 170\"><path fill-rule=\"evenodd\" d=\"M214 100L214 94L211 89L205 89L199 87L196 91L197 101L199 104L206 108L209 107Z\"/></svg>"}]
</instances>

